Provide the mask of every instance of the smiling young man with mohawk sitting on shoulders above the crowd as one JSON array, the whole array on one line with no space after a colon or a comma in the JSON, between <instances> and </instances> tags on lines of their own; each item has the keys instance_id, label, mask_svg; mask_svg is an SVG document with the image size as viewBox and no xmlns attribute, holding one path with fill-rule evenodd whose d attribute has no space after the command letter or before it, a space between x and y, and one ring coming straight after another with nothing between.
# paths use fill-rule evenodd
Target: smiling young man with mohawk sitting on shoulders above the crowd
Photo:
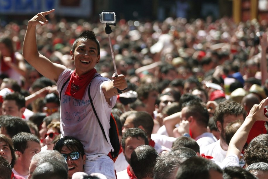
<instances>
[{"instance_id":1,"label":"smiling young man with mohawk sitting on shoulders above the crowd","mask_svg":"<svg viewBox=\"0 0 268 179\"><path fill-rule=\"evenodd\" d=\"M109 139L111 109L116 102L117 89L127 87L126 78L118 75L111 81L96 72L94 67L100 61L100 44L93 31L83 31L74 41L70 55L71 60L74 60L75 70L52 63L38 53L36 26L47 24L45 16L52 12L54 9L38 13L28 22L23 43L24 58L42 75L57 82L61 99L61 134L63 137L73 136L84 145L85 172L103 173L107 178L115 178L114 163L107 156L113 148L110 141L107 142L103 136L91 104L94 104L106 138ZM90 83L92 101L88 95Z\"/></svg>"}]
</instances>

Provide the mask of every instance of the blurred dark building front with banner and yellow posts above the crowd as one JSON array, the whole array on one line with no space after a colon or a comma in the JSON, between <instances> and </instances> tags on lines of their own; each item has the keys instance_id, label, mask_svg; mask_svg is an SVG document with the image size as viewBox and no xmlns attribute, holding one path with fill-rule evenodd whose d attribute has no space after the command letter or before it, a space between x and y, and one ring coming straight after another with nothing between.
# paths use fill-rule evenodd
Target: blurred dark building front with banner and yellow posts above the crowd
<instances>
[{"instance_id":1,"label":"blurred dark building front with banner and yellow posts above the crowd","mask_svg":"<svg viewBox=\"0 0 268 179\"><path fill-rule=\"evenodd\" d=\"M141 21L207 16L233 17L236 22L268 19L268 0L0 0L0 20L20 22L50 9L56 9L58 17L92 22L98 21L103 10L114 11L117 19Z\"/></svg>"}]
</instances>

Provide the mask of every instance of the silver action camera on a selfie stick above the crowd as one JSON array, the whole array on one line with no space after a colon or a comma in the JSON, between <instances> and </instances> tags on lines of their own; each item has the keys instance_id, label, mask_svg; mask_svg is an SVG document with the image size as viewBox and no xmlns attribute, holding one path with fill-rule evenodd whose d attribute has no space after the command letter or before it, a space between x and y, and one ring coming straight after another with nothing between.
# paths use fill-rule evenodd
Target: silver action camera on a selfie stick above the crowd
<instances>
[{"instance_id":1,"label":"silver action camera on a selfie stick above the crowd","mask_svg":"<svg viewBox=\"0 0 268 179\"><path fill-rule=\"evenodd\" d=\"M111 11L103 11L100 14L100 22L106 23L105 33L108 35L109 45L110 45L111 55L112 55L112 63L114 65L115 77L117 77L118 74L117 74L117 69L116 69L116 65L115 65L115 54L114 54L114 50L112 48L112 41L111 41L111 36L110 36L110 33L112 33L112 29L111 29L110 25L115 26L115 13L111 12ZM122 94L122 91L117 88L117 93Z\"/></svg>"}]
</instances>

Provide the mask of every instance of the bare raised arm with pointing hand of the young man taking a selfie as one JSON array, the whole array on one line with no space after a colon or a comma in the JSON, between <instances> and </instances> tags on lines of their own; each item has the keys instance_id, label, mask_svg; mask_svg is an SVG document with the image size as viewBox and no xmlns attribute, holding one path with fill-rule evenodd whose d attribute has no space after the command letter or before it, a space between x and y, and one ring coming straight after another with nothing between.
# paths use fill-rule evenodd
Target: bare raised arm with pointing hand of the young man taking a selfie
<instances>
[{"instance_id":1,"label":"bare raised arm with pointing hand of the young man taking a selfie","mask_svg":"<svg viewBox=\"0 0 268 179\"><path fill-rule=\"evenodd\" d=\"M66 67L52 63L48 58L37 51L35 28L37 25L44 26L48 23L46 15L54 12L55 9L46 12L40 12L29 22L23 42L23 56L38 72L45 77L57 82L59 75Z\"/></svg>"}]
</instances>

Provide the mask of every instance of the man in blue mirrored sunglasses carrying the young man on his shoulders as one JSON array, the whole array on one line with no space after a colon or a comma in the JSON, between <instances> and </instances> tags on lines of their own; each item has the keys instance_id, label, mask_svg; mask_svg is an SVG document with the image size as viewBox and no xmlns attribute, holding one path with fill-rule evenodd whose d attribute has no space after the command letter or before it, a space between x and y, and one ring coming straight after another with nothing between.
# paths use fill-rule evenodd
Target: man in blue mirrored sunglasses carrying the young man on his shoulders
<instances>
[{"instance_id":1,"label":"man in blue mirrored sunglasses carrying the young man on his shoulders","mask_svg":"<svg viewBox=\"0 0 268 179\"><path fill-rule=\"evenodd\" d=\"M59 151L67 161L68 178L71 179L75 172L83 172L86 155L83 144L74 137L65 136L54 145L53 150Z\"/></svg>"}]
</instances>

